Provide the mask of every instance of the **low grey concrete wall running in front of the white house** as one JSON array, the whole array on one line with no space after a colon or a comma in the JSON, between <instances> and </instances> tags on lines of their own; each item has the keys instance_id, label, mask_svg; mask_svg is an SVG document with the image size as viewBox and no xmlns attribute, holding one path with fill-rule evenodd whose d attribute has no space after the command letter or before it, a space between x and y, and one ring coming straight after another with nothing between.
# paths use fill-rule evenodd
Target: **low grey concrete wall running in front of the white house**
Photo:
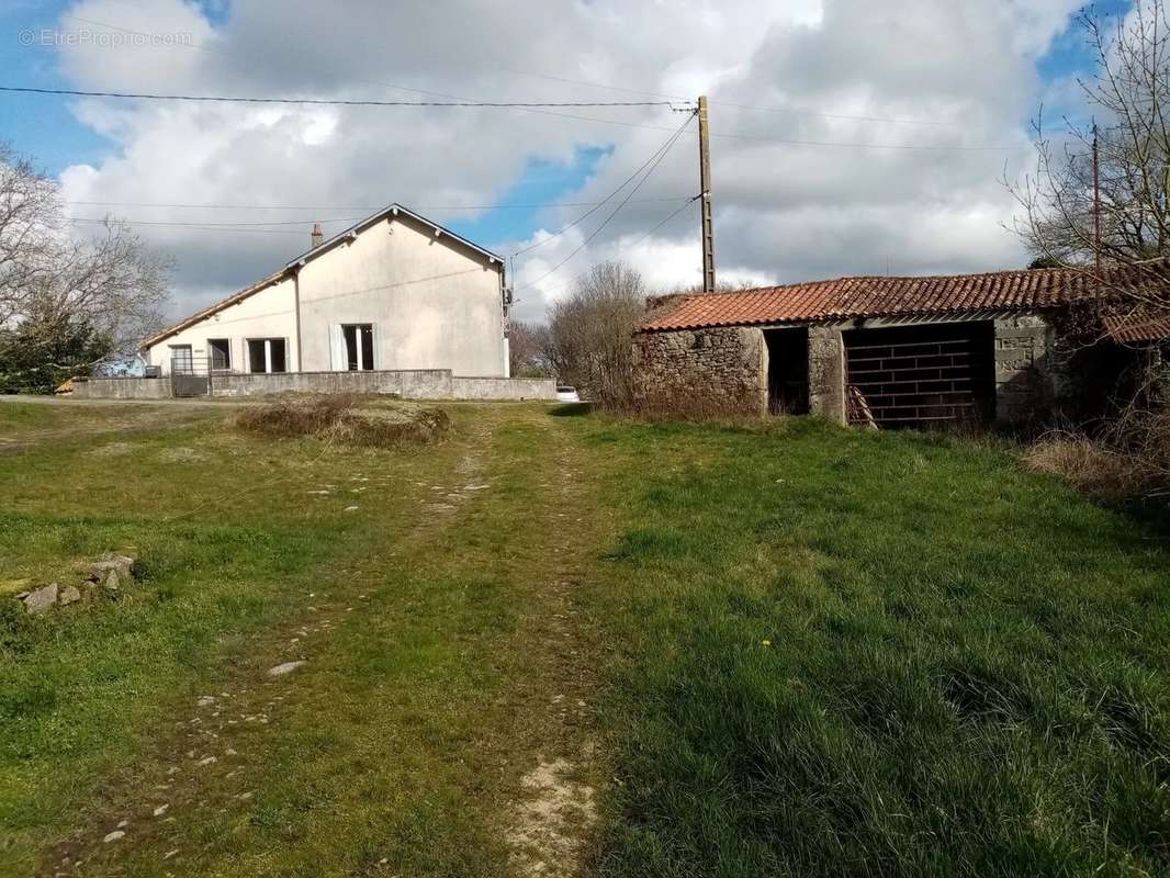
<instances>
[{"instance_id":1,"label":"low grey concrete wall running in front of the white house","mask_svg":"<svg viewBox=\"0 0 1170 878\"><path fill-rule=\"evenodd\" d=\"M274 393L390 393L402 399L535 399L557 398L557 383L544 378L474 378L449 369L377 372L218 373L212 397L260 397ZM167 399L170 378L89 378L74 382L80 399Z\"/></svg>"}]
</instances>

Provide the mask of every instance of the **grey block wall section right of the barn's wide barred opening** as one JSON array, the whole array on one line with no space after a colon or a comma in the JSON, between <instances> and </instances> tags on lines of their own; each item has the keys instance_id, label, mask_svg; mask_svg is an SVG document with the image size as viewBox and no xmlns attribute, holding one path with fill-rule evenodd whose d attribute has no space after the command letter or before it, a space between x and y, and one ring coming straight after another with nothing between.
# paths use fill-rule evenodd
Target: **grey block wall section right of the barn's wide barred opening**
<instances>
[{"instance_id":1,"label":"grey block wall section right of the barn's wide barred opening","mask_svg":"<svg viewBox=\"0 0 1170 878\"><path fill-rule=\"evenodd\" d=\"M996 421L1044 423L1072 389L1048 321L1035 314L996 320Z\"/></svg>"}]
</instances>

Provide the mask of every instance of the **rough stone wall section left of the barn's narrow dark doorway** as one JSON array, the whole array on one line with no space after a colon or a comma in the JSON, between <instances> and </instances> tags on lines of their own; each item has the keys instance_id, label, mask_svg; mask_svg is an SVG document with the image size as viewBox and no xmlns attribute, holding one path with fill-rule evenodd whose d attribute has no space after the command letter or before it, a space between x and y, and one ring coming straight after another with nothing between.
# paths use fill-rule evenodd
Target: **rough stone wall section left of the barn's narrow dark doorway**
<instances>
[{"instance_id":1,"label":"rough stone wall section left of the barn's narrow dark doorway","mask_svg":"<svg viewBox=\"0 0 1170 878\"><path fill-rule=\"evenodd\" d=\"M634 336L636 396L680 409L707 403L762 413L768 409L765 356L759 329L639 332Z\"/></svg>"}]
</instances>

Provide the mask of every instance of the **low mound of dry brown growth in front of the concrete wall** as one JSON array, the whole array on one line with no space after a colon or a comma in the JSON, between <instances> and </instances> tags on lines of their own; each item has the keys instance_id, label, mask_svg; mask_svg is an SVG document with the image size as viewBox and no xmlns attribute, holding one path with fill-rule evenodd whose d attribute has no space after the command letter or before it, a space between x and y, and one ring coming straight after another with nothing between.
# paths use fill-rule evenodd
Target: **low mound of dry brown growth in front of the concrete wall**
<instances>
[{"instance_id":1,"label":"low mound of dry brown growth in front of the concrete wall","mask_svg":"<svg viewBox=\"0 0 1170 878\"><path fill-rule=\"evenodd\" d=\"M328 395L252 406L235 424L274 438L311 435L338 445L393 447L439 441L450 428L450 418L442 409L362 405L357 396Z\"/></svg>"}]
</instances>

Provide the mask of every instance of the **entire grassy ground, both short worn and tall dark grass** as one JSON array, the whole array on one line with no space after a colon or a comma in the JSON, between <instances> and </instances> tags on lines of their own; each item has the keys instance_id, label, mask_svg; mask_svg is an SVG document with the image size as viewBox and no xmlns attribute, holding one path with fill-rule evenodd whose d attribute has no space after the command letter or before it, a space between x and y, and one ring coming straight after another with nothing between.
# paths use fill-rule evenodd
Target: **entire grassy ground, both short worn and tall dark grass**
<instances>
[{"instance_id":1,"label":"entire grassy ground, both short worn and tall dark grass","mask_svg":"<svg viewBox=\"0 0 1170 878\"><path fill-rule=\"evenodd\" d=\"M1002 451L173 411L0 405L0 591L144 579L5 603L2 874L1170 870L1168 531Z\"/></svg>"}]
</instances>

